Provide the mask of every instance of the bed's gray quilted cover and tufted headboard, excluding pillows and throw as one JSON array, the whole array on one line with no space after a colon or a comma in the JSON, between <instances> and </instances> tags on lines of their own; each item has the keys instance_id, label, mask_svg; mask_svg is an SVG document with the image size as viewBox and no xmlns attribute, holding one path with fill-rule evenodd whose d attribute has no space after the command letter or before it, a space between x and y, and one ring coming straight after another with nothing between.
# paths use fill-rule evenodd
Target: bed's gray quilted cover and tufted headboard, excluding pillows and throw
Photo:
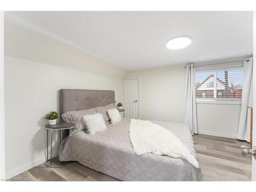
<instances>
[{"instance_id":1,"label":"bed's gray quilted cover and tufted headboard, excluding pillows and throw","mask_svg":"<svg viewBox=\"0 0 256 192\"><path fill-rule=\"evenodd\" d=\"M114 91L60 90L60 113L103 106L115 102ZM63 120L62 120L63 121ZM60 161L78 161L84 166L121 181L199 181L201 169L186 160L134 153L129 139L131 119L123 118L96 135L76 132L62 140ZM183 123L152 121L170 130L196 157L193 137Z\"/></svg>"}]
</instances>

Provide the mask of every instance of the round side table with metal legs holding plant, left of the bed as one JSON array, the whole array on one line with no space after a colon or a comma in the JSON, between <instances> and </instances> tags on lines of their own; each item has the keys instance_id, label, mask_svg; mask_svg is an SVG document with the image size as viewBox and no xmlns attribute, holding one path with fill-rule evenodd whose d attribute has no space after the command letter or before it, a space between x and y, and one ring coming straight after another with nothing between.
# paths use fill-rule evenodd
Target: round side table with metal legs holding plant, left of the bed
<instances>
[{"instance_id":1,"label":"round side table with metal legs holding plant, left of the bed","mask_svg":"<svg viewBox=\"0 0 256 192\"><path fill-rule=\"evenodd\" d=\"M52 168L57 168L57 167L63 167L71 164L71 161L59 161L59 157L52 157L52 132L54 130L58 131L60 130L60 139L62 140L62 131L63 130L68 130L72 129L74 127L74 123L56 123L55 125L46 125L47 129L47 159L46 159L46 166L52 167ZM50 159L48 157L48 148L49 148L49 131L50 131L50 146L51 146L51 151L50 151ZM60 141L61 142L61 141Z\"/></svg>"}]
</instances>

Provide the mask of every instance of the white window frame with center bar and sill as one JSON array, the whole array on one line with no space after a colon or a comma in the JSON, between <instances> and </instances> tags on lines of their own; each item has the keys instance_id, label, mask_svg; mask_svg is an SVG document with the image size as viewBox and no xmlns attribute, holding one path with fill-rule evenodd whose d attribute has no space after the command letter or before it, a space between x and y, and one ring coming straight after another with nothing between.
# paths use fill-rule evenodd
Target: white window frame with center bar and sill
<instances>
[{"instance_id":1,"label":"white window frame with center bar and sill","mask_svg":"<svg viewBox=\"0 0 256 192\"><path fill-rule=\"evenodd\" d=\"M200 70L196 71L196 73L207 73L214 72L214 97L217 97L217 72L218 71L231 71L231 70L243 70L243 67L235 67L235 68L220 68L220 69L208 69L208 70ZM196 98L197 103L202 104L236 104L241 105L242 99L239 98Z\"/></svg>"}]
</instances>

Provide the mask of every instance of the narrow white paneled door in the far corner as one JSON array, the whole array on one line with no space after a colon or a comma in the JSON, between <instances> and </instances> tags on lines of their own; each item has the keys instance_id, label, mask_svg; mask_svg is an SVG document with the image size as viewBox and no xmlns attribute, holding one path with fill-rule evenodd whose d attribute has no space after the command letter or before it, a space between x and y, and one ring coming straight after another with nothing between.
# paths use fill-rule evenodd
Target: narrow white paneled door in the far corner
<instances>
[{"instance_id":1,"label":"narrow white paneled door in the far corner","mask_svg":"<svg viewBox=\"0 0 256 192\"><path fill-rule=\"evenodd\" d=\"M126 118L139 118L139 79L123 80L123 106Z\"/></svg>"}]
</instances>

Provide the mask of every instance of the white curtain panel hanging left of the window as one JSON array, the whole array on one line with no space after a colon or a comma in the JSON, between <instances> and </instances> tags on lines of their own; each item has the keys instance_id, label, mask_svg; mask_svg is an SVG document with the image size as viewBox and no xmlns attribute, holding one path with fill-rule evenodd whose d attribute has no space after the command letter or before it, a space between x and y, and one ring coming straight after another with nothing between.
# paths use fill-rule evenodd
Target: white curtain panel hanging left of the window
<instances>
[{"instance_id":1,"label":"white curtain panel hanging left of the window","mask_svg":"<svg viewBox=\"0 0 256 192\"><path fill-rule=\"evenodd\" d=\"M194 133L198 134L195 75L196 69L194 65L187 65L183 123L189 126L193 135Z\"/></svg>"}]
</instances>

